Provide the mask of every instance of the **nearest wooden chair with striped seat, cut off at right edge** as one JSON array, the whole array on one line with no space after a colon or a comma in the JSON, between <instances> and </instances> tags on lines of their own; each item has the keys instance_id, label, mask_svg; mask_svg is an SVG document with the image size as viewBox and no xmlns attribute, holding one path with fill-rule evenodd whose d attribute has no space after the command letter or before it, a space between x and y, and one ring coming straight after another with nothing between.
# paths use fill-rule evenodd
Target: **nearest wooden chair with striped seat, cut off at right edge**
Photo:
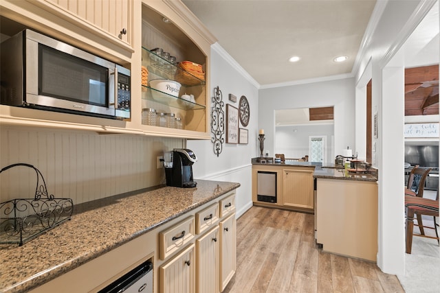
<instances>
[{"instance_id":1,"label":"nearest wooden chair with striped seat, cut off at right edge","mask_svg":"<svg viewBox=\"0 0 440 293\"><path fill-rule=\"evenodd\" d=\"M417 196L405 195L405 207L406 207L406 253L411 253L412 248L412 235L414 228L414 215L432 215L434 217L434 229L437 237L431 237L428 235L417 235L422 237L428 237L437 239L439 242L439 234L437 232L437 223L435 217L439 216L439 191L437 191L437 198L431 200L429 198L419 198ZM420 226L420 225L419 225Z\"/></svg>"}]
</instances>

